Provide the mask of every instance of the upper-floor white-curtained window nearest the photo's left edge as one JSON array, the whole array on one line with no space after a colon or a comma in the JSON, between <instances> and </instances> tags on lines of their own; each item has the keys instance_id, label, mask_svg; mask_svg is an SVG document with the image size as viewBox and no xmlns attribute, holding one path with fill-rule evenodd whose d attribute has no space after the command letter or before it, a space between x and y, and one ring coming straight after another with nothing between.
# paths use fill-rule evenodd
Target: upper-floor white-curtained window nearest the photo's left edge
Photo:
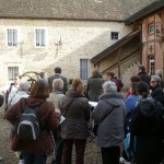
<instances>
[{"instance_id":1,"label":"upper-floor white-curtained window nearest the photo's left edge","mask_svg":"<svg viewBox=\"0 0 164 164\"><path fill-rule=\"evenodd\" d=\"M8 30L8 46L17 46L17 30Z\"/></svg>"}]
</instances>

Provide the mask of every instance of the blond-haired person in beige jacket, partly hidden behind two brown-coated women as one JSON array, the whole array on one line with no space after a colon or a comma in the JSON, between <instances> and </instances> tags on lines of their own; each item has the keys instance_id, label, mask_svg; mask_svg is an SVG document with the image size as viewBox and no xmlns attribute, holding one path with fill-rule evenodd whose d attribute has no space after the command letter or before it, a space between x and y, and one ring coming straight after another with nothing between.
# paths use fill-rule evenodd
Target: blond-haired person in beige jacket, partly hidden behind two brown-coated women
<instances>
[{"instance_id":1,"label":"blond-haired person in beige jacket, partly hidden behind two brown-coated women","mask_svg":"<svg viewBox=\"0 0 164 164\"><path fill-rule=\"evenodd\" d=\"M63 87L63 81L59 79L55 79L52 81L52 93L50 93L49 98L47 101L50 101L55 108L61 109L61 98L65 96L65 94L61 92ZM52 131L54 138L55 138L55 159L54 164L61 164L62 160L62 139L60 137L61 127Z\"/></svg>"}]
</instances>

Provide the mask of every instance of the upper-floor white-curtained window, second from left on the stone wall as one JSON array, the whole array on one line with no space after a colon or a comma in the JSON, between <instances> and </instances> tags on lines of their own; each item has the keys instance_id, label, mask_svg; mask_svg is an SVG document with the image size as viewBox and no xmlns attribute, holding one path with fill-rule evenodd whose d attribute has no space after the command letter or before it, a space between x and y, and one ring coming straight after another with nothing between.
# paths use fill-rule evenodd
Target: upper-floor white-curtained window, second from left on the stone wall
<instances>
[{"instance_id":1,"label":"upper-floor white-curtained window, second from left on the stone wall","mask_svg":"<svg viewBox=\"0 0 164 164\"><path fill-rule=\"evenodd\" d=\"M36 46L45 46L45 30L36 30Z\"/></svg>"}]
</instances>

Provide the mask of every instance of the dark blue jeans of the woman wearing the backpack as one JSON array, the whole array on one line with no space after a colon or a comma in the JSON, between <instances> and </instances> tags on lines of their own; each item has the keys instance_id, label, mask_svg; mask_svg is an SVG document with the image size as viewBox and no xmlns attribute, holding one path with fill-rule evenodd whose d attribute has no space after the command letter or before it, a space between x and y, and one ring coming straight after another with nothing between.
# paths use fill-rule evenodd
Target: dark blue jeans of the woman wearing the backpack
<instances>
[{"instance_id":1,"label":"dark blue jeans of the woman wearing the backpack","mask_svg":"<svg viewBox=\"0 0 164 164\"><path fill-rule=\"evenodd\" d=\"M23 152L24 164L46 164L47 155Z\"/></svg>"}]
</instances>

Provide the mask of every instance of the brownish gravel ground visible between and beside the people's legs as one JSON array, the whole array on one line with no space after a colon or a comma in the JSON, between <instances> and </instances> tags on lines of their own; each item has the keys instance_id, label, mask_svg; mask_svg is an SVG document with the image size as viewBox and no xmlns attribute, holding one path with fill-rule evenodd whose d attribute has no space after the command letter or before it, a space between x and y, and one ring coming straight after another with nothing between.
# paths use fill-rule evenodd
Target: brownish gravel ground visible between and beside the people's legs
<instances>
[{"instance_id":1,"label":"brownish gravel ground visible between and beside the people's legs","mask_svg":"<svg viewBox=\"0 0 164 164\"><path fill-rule=\"evenodd\" d=\"M3 119L3 112L0 110L0 164L17 164L19 160L10 149L9 141L10 124ZM87 141L85 155L85 164L102 164L99 148L96 145L96 139ZM51 156L48 157L47 164L50 164ZM73 155L74 159L74 155Z\"/></svg>"}]
</instances>

